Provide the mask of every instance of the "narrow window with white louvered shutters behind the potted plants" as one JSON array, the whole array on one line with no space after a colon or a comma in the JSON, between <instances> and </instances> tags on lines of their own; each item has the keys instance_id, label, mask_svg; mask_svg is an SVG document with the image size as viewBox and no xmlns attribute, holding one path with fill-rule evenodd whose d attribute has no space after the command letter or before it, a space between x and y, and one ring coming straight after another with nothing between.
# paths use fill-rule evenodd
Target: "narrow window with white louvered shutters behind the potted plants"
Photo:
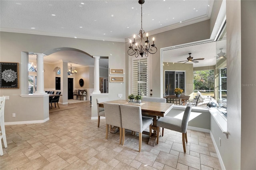
<instances>
[{"instance_id":1,"label":"narrow window with white louvered shutters behind the potted plants","mask_svg":"<svg viewBox=\"0 0 256 170\"><path fill-rule=\"evenodd\" d=\"M148 97L148 58L132 58L132 94Z\"/></svg>"}]
</instances>

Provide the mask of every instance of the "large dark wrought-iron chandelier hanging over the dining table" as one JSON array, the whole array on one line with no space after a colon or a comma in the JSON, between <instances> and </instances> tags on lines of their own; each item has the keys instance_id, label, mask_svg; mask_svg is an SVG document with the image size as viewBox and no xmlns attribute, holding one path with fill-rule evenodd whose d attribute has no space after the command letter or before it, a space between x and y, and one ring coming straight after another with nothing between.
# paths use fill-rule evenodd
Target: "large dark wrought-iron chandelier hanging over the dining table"
<instances>
[{"instance_id":1,"label":"large dark wrought-iron chandelier hanging over the dining table","mask_svg":"<svg viewBox=\"0 0 256 170\"><path fill-rule=\"evenodd\" d=\"M148 33L146 33L147 40L145 41L143 38L143 36L145 36L145 31L142 28L142 4L144 4L144 2L145 2L144 0L139 0L139 4L141 4L141 28L139 32L140 41L138 43L135 42L136 36L134 34L133 42L132 40L130 40L130 47L128 49L128 55L135 55L135 57L138 57L139 55L141 55L141 57L143 57L143 55L148 57L148 53L154 54L157 51L157 48L155 47L155 44L154 44L154 40L155 40L154 37L152 39L153 41L152 45L150 45L148 41Z\"/></svg>"}]
</instances>

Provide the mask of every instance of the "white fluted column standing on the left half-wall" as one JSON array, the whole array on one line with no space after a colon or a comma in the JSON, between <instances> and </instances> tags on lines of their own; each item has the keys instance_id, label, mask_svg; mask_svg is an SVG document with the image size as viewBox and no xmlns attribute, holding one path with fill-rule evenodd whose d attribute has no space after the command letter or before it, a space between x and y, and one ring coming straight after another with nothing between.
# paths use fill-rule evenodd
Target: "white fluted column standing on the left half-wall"
<instances>
[{"instance_id":1,"label":"white fluted column standing on the left half-wall","mask_svg":"<svg viewBox=\"0 0 256 170\"><path fill-rule=\"evenodd\" d=\"M36 94L44 94L44 53L36 54Z\"/></svg>"}]
</instances>

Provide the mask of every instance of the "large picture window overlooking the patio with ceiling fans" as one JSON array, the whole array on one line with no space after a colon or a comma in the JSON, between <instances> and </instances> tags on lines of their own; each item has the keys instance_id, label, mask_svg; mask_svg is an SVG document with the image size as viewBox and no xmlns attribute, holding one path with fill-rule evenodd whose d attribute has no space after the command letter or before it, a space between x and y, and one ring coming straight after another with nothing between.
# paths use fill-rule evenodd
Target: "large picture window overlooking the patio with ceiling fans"
<instances>
[{"instance_id":1,"label":"large picture window overlooking the patio with ceiling fans","mask_svg":"<svg viewBox=\"0 0 256 170\"><path fill-rule=\"evenodd\" d=\"M225 24L216 41L168 47L162 50L162 61L164 95L173 95L175 88L183 89L190 99L200 94L207 99L205 107L213 101L227 116Z\"/></svg>"}]
</instances>

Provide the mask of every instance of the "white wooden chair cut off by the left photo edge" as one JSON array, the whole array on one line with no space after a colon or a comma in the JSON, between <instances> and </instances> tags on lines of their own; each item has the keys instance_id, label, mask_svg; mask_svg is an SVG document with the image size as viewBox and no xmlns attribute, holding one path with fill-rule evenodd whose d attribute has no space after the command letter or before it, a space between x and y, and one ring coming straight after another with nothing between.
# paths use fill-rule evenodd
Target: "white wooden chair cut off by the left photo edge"
<instances>
[{"instance_id":1,"label":"white wooden chair cut off by the left photo edge","mask_svg":"<svg viewBox=\"0 0 256 170\"><path fill-rule=\"evenodd\" d=\"M6 141L6 133L4 127L4 105L5 105L5 97L0 97L0 156L4 154L2 148L2 139L4 141L4 147L7 148L7 141Z\"/></svg>"}]
</instances>

